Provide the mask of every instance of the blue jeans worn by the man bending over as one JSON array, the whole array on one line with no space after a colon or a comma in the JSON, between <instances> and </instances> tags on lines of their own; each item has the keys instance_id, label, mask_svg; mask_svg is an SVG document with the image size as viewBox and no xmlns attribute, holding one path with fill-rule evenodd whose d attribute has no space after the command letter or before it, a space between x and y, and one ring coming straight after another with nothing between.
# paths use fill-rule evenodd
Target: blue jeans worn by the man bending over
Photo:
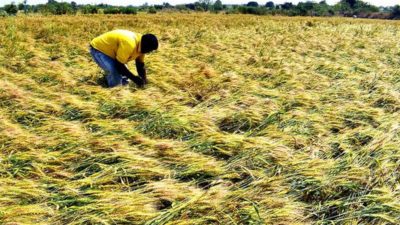
<instances>
[{"instance_id":1,"label":"blue jeans worn by the man bending over","mask_svg":"<svg viewBox=\"0 0 400 225\"><path fill-rule=\"evenodd\" d=\"M127 78L123 77L117 70L116 59L111 58L92 46L90 46L90 54L97 65L99 65L106 72L108 87L128 84Z\"/></svg>"}]
</instances>

